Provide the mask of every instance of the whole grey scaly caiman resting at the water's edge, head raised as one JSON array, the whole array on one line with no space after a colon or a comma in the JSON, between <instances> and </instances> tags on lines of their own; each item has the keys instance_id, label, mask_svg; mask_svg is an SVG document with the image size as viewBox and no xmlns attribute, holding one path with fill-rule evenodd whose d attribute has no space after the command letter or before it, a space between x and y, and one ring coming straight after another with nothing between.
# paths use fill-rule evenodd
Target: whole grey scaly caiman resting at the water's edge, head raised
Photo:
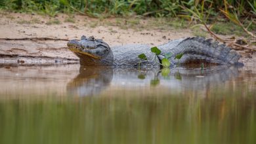
<instances>
[{"instance_id":1,"label":"whole grey scaly caiman resting at the water's edge, head raised","mask_svg":"<svg viewBox=\"0 0 256 144\"><path fill-rule=\"evenodd\" d=\"M104 65L114 67L138 66L139 54L144 53L147 60L142 60L142 67L157 67L164 57L164 54L172 54L168 60L172 65L184 63L213 63L219 65L243 65L238 62L240 54L230 47L212 39L203 37L188 37L169 41L157 46L161 54L156 57L148 45L124 45L110 46L101 39L93 36L87 38L84 35L80 41L71 40L68 48L79 57L81 65ZM181 60L175 59L177 54L183 54Z\"/></svg>"}]
</instances>

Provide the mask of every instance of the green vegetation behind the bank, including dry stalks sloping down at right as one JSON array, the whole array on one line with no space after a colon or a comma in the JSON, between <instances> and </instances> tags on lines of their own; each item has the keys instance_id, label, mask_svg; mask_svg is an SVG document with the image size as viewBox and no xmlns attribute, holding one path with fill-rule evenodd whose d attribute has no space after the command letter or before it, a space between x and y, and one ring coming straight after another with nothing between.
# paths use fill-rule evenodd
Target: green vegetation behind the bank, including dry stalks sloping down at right
<instances>
[{"instance_id":1,"label":"green vegetation behind the bank, including dry stalks sloping down at right","mask_svg":"<svg viewBox=\"0 0 256 144\"><path fill-rule=\"evenodd\" d=\"M177 25L173 21L178 20L179 27L184 27L185 20L186 27L191 27L190 24L194 24L194 29L203 26L223 43L256 51L248 47L256 45L256 0L0 0L1 9L51 17L58 13L96 18L151 16L159 18L156 21L165 18L171 25ZM195 31L195 35L205 36ZM216 34L242 35L245 39L226 40Z\"/></svg>"}]
</instances>

